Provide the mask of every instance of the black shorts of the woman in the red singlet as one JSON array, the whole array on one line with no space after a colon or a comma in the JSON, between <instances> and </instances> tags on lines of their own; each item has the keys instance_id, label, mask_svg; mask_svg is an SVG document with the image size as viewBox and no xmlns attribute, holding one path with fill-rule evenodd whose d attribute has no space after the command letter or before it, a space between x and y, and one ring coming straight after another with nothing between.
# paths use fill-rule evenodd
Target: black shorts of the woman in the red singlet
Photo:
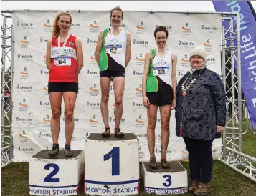
<instances>
[{"instance_id":1,"label":"black shorts of the woman in the red singlet","mask_svg":"<svg viewBox=\"0 0 256 196\"><path fill-rule=\"evenodd\" d=\"M76 82L49 82L48 93L50 92L75 92L78 93Z\"/></svg>"}]
</instances>

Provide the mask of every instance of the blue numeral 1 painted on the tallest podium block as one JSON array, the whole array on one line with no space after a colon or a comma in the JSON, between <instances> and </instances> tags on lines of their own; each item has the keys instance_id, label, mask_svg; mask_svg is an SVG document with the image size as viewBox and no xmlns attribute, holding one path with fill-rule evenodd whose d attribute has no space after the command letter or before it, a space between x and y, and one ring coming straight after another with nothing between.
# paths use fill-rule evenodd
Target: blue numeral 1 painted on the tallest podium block
<instances>
[{"instance_id":1,"label":"blue numeral 1 painted on the tallest podium block","mask_svg":"<svg viewBox=\"0 0 256 196\"><path fill-rule=\"evenodd\" d=\"M112 159L112 175L120 175L120 150L119 147L113 149L104 155L104 161Z\"/></svg>"}]
</instances>

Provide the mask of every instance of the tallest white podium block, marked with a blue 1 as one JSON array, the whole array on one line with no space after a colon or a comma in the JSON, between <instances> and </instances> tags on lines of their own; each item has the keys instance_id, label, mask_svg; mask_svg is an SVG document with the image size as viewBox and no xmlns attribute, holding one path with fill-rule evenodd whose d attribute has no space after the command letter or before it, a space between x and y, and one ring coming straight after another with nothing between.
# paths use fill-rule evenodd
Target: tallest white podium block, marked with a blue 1
<instances>
[{"instance_id":1,"label":"tallest white podium block, marked with a blue 1","mask_svg":"<svg viewBox=\"0 0 256 196\"><path fill-rule=\"evenodd\" d=\"M138 194L138 156L135 134L126 133L123 138L90 134L85 140L85 194Z\"/></svg>"}]
</instances>

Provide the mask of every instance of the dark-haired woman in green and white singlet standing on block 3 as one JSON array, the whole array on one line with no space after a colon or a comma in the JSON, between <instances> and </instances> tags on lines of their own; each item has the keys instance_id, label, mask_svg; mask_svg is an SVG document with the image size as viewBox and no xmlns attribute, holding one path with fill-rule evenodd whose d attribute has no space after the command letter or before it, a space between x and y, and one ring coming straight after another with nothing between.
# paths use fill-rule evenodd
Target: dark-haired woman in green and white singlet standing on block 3
<instances>
[{"instance_id":1,"label":"dark-haired woman in green and white singlet standing on block 3","mask_svg":"<svg viewBox=\"0 0 256 196\"><path fill-rule=\"evenodd\" d=\"M150 152L149 167L156 169L155 128L157 109L161 114L161 167L168 168L166 151L169 143L169 122L171 109L176 106L176 62L177 57L166 49L168 31L165 26L158 26L154 32L156 49L145 55L142 79L143 105L148 110L148 149Z\"/></svg>"}]
</instances>

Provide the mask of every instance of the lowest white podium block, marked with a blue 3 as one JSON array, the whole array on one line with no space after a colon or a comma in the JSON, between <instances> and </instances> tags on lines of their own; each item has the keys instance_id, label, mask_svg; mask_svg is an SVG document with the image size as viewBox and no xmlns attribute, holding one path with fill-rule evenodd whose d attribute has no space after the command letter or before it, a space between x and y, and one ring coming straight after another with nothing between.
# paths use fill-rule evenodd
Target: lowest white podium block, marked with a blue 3
<instances>
[{"instance_id":1,"label":"lowest white podium block, marked with a blue 3","mask_svg":"<svg viewBox=\"0 0 256 196\"><path fill-rule=\"evenodd\" d=\"M176 195L187 192L187 171L180 162L170 162L169 169L161 168L152 170L149 162L143 162L143 178L145 192L156 195Z\"/></svg>"}]
</instances>

